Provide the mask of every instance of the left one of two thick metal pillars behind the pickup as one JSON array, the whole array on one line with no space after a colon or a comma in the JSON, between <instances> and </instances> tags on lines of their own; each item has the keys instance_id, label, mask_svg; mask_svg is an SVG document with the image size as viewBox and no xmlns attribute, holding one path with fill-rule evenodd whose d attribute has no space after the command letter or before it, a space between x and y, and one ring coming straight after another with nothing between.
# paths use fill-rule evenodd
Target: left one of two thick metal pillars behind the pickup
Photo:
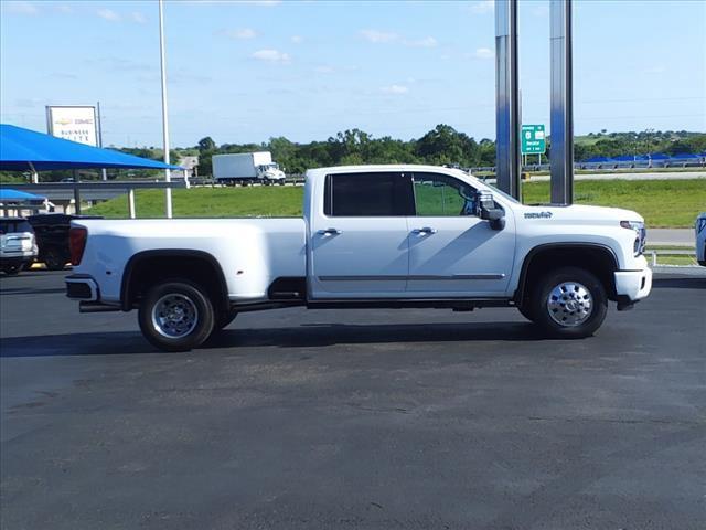
<instances>
[{"instance_id":1,"label":"left one of two thick metal pillars behind the pickup","mask_svg":"<svg viewBox=\"0 0 706 530\"><path fill-rule=\"evenodd\" d=\"M495 0L495 174L498 188L520 199L517 0Z\"/></svg>"}]
</instances>

